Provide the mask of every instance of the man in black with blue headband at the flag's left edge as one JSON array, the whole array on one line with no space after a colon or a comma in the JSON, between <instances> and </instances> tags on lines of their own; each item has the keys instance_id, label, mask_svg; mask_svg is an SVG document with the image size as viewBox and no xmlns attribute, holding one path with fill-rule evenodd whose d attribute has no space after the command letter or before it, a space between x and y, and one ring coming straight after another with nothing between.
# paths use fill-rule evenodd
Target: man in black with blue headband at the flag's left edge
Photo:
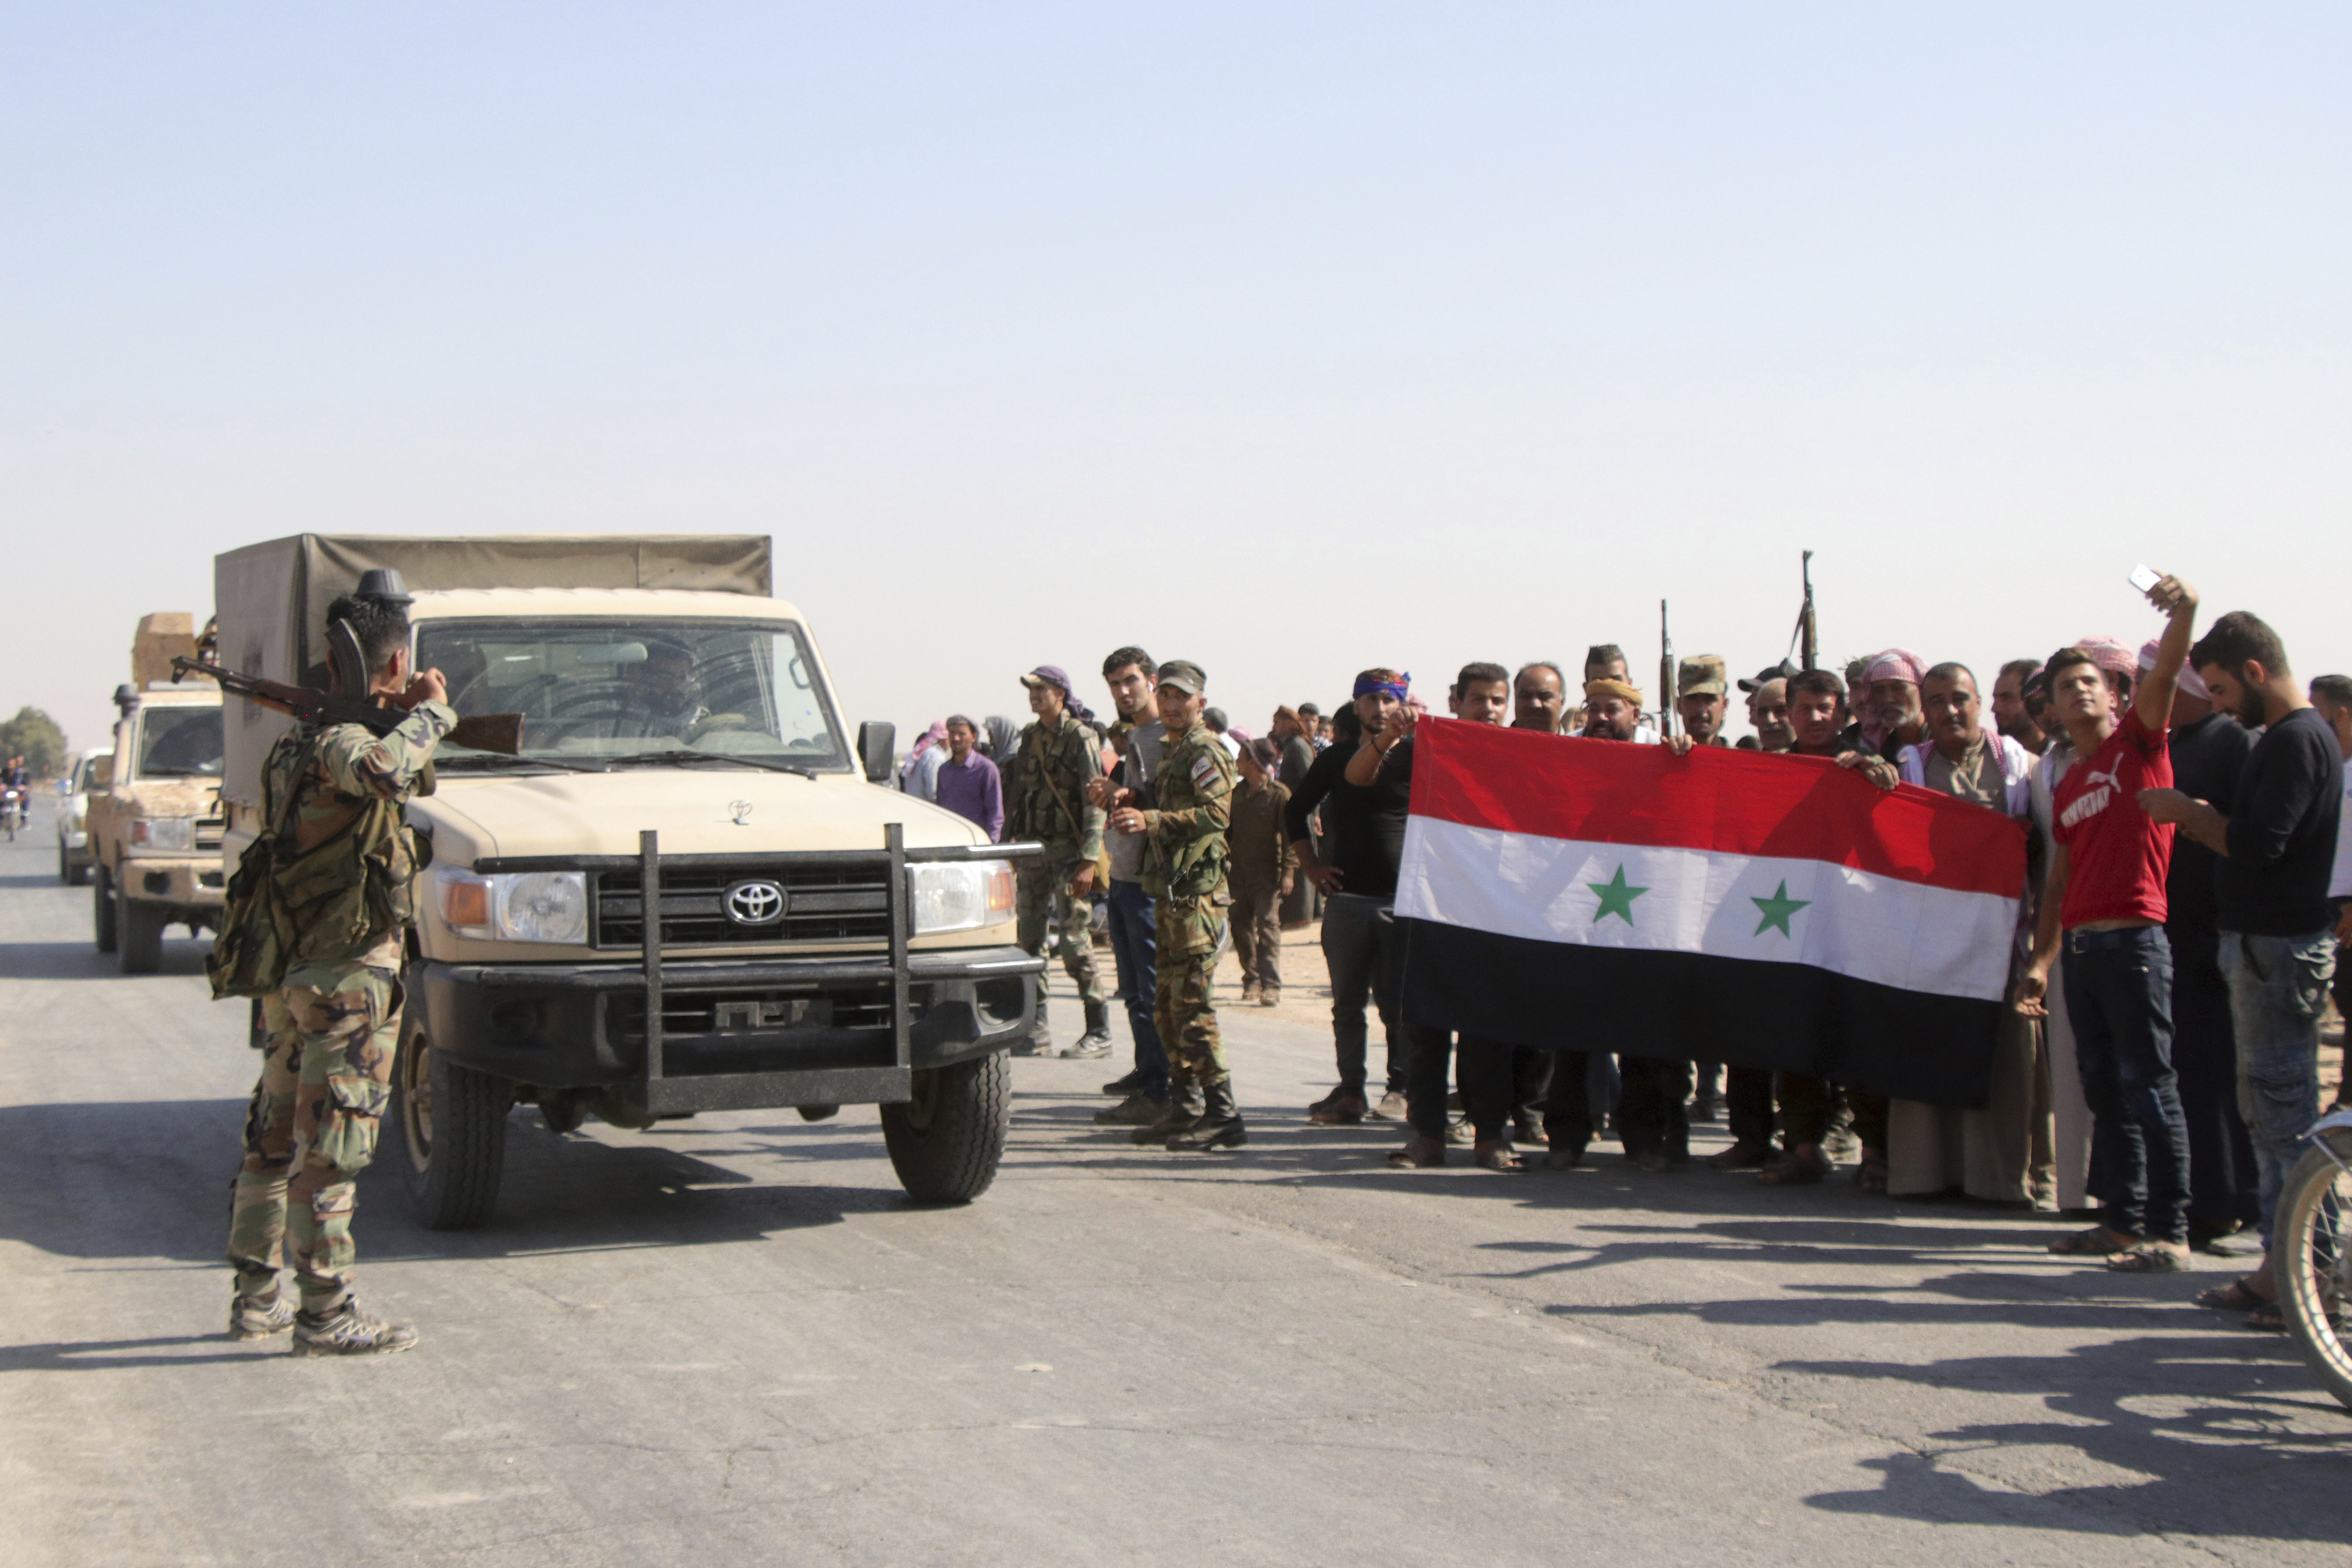
<instances>
[{"instance_id":1,"label":"man in black with blue headband at the flag's left edge","mask_svg":"<svg viewBox=\"0 0 2352 1568\"><path fill-rule=\"evenodd\" d=\"M1291 792L1284 830L1298 851L1298 875L1324 896L1322 947L1331 969L1331 1046L1338 1056L1338 1088L1308 1107L1308 1121L1345 1126L1362 1121L1364 1103L1364 997L1369 994L1388 1030L1388 1093L1371 1114L1404 1119L1404 1058L1395 1006L1395 966L1390 933L1397 900L1397 860L1404 856L1404 816L1411 792L1402 780L1350 785L1348 759L1364 733L1378 733L1388 715L1404 705L1411 677L1395 670L1364 670L1355 677L1355 703L1334 712L1343 724L1308 776ZM1322 842L1308 839L1308 816L1322 806Z\"/></svg>"}]
</instances>

